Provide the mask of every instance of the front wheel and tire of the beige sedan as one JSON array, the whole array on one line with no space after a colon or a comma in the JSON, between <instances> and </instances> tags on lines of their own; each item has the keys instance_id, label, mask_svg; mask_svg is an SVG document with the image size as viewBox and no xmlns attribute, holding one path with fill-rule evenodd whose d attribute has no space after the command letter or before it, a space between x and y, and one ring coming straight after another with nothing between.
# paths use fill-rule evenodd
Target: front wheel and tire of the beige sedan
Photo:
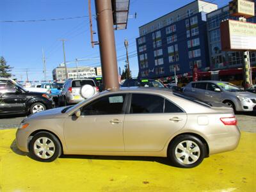
<instances>
[{"instance_id":1,"label":"front wheel and tire of the beige sedan","mask_svg":"<svg viewBox=\"0 0 256 192\"><path fill-rule=\"evenodd\" d=\"M29 142L29 155L36 161L54 161L61 152L60 141L50 132L38 132Z\"/></svg>"}]
</instances>

